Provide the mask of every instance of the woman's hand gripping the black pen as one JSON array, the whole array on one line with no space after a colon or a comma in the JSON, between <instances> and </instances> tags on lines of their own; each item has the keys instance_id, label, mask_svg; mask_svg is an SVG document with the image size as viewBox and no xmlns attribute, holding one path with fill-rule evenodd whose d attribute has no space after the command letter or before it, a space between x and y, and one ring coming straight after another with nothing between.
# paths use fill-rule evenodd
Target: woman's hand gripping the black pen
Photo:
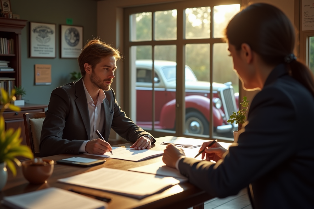
<instances>
[{"instance_id":1,"label":"woman's hand gripping the black pen","mask_svg":"<svg viewBox=\"0 0 314 209\"><path fill-rule=\"evenodd\" d=\"M206 155L206 160L214 160L218 161L222 158L223 154L227 151L225 148L223 148L219 143L214 143L211 147L207 147L212 141L204 142L202 147L199 149L199 151L205 149L204 152L202 152L202 159L204 159Z\"/></svg>"}]
</instances>

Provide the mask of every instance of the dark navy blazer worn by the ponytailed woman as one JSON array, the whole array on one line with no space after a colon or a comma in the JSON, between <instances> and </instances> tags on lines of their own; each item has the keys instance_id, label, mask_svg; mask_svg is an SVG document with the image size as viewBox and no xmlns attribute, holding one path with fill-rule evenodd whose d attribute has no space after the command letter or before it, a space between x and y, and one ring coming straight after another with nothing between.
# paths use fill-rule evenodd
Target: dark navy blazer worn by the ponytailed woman
<instances>
[{"instance_id":1,"label":"dark navy blazer worn by the ponytailed woman","mask_svg":"<svg viewBox=\"0 0 314 209\"><path fill-rule=\"evenodd\" d=\"M183 158L180 172L217 197L250 183L257 209L314 208L314 99L284 64L252 101L245 132L216 164Z\"/></svg>"}]
</instances>

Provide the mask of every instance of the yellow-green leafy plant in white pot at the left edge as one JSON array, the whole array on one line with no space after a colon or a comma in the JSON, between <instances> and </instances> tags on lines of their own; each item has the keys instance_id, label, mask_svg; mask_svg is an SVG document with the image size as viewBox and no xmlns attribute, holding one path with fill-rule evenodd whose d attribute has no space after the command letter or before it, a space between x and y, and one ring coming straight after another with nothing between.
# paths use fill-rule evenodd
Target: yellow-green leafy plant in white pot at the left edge
<instances>
[{"instance_id":1,"label":"yellow-green leafy plant in white pot at the left edge","mask_svg":"<svg viewBox=\"0 0 314 209\"><path fill-rule=\"evenodd\" d=\"M3 112L5 109L9 108L13 111L20 111L19 107L11 104L11 101L14 101L16 98L14 96L15 89L12 89L11 95L1 88L0 89L2 98L1 102L3 106L0 110L0 191L4 187L7 182L8 173L7 166L12 171L13 175L16 175L16 168L14 162L20 166L21 162L16 158L17 156L22 156L26 158L33 159L33 153L31 149L26 145L21 145L22 138L21 128L14 130L13 128L9 128L5 130L5 123L3 118Z\"/></svg>"}]
</instances>

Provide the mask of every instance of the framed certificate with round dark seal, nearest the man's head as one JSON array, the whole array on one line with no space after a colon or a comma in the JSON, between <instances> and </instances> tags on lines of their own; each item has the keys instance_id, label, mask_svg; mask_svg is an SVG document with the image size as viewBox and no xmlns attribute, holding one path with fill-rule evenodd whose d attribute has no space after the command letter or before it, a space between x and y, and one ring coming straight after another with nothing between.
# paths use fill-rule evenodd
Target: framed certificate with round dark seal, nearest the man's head
<instances>
[{"instance_id":1,"label":"framed certificate with round dark seal, nearest the man's head","mask_svg":"<svg viewBox=\"0 0 314 209\"><path fill-rule=\"evenodd\" d=\"M83 27L61 25L60 34L60 57L78 58L83 48Z\"/></svg>"}]
</instances>

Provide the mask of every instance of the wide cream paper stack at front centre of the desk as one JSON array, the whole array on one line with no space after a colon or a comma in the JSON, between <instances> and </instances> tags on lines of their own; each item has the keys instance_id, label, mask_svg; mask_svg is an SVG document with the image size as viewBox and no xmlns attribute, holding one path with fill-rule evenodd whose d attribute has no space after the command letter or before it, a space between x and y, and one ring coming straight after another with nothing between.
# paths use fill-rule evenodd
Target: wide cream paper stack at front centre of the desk
<instances>
[{"instance_id":1,"label":"wide cream paper stack at front centre of the desk","mask_svg":"<svg viewBox=\"0 0 314 209\"><path fill-rule=\"evenodd\" d=\"M183 179L179 178L111 168L100 168L68 178L58 179L58 182L109 191L137 199L164 191L183 181Z\"/></svg>"}]
</instances>

